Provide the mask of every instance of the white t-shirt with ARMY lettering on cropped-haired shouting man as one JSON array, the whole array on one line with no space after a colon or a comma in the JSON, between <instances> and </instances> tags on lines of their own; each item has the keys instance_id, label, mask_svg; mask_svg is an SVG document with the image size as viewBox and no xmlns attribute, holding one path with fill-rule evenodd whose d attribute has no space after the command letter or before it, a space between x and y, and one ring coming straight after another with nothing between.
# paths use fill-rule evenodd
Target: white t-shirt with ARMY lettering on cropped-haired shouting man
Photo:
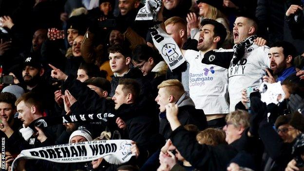
<instances>
[{"instance_id":1,"label":"white t-shirt with ARMY lettering on cropped-haired shouting man","mask_svg":"<svg viewBox=\"0 0 304 171\"><path fill-rule=\"evenodd\" d=\"M232 60L228 69L230 112L241 101L241 91L248 87L259 87L265 76L265 68L270 66L268 46L251 45L245 50L244 57L233 66Z\"/></svg>"}]
</instances>

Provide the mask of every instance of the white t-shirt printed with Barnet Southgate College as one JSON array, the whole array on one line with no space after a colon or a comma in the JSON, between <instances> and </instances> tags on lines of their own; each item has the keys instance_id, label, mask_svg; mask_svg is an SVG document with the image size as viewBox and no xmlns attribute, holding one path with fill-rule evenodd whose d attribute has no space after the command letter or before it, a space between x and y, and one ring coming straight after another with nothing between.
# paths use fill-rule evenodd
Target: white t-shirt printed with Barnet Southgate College
<instances>
[{"instance_id":1,"label":"white t-shirt printed with Barnet Southgate College","mask_svg":"<svg viewBox=\"0 0 304 171\"><path fill-rule=\"evenodd\" d=\"M187 50L184 57L190 64L189 93L195 108L203 109L205 114L229 113L228 70L202 63L204 54L201 51ZM209 57L210 63L214 58Z\"/></svg>"}]
</instances>

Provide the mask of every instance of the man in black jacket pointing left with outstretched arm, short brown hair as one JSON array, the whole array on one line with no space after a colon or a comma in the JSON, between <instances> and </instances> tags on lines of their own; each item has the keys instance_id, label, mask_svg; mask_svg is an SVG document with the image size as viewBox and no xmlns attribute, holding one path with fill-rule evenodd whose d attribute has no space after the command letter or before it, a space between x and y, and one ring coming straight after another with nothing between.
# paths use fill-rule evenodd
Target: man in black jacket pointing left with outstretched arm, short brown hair
<instances>
[{"instance_id":1,"label":"man in black jacket pointing left with outstretched arm, short brown hair","mask_svg":"<svg viewBox=\"0 0 304 171\"><path fill-rule=\"evenodd\" d=\"M163 143L161 136L157 133L158 119L155 118L155 109L151 105L152 101L146 95L140 94L140 84L136 80L130 78L119 80L112 97L115 103L113 107L105 98L93 94L79 81L72 80L73 77L65 75L52 65L50 66L53 68L51 76L64 80L63 89L69 89L71 94L78 99L77 103L82 104L80 107L85 106L86 112L104 114L111 111L118 117L116 124L119 128L124 128L122 137L136 142L140 149L141 157L139 158L146 159L149 157L149 153L152 154ZM72 112L77 109L75 104L71 106ZM121 125L119 123L120 118L125 124ZM111 123L108 122L108 124Z\"/></svg>"}]
</instances>

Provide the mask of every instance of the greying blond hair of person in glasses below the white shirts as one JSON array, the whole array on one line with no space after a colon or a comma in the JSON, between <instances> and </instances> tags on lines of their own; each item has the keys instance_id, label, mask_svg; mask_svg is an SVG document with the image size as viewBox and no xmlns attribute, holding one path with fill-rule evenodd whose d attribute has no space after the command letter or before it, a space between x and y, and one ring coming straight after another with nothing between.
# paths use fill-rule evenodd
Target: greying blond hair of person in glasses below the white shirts
<instances>
[{"instance_id":1,"label":"greying blond hair of person in glasses below the white shirts","mask_svg":"<svg viewBox=\"0 0 304 171\"><path fill-rule=\"evenodd\" d=\"M244 127L245 129L250 126L249 124L249 114L243 110L236 110L227 114L226 122L231 122L235 127Z\"/></svg>"}]
</instances>

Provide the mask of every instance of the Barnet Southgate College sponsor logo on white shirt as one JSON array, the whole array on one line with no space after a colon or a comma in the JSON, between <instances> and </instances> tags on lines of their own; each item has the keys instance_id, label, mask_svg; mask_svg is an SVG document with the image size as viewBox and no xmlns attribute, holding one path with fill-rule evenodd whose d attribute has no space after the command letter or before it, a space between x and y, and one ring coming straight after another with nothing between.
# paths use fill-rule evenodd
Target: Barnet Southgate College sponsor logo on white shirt
<instances>
[{"instance_id":1,"label":"Barnet Southgate College sponsor logo on white shirt","mask_svg":"<svg viewBox=\"0 0 304 171\"><path fill-rule=\"evenodd\" d=\"M215 73L214 67L211 66L209 69L204 68L204 72L201 74L194 74L189 73L189 86L204 86L206 81L212 81L213 80L213 74Z\"/></svg>"}]
</instances>

